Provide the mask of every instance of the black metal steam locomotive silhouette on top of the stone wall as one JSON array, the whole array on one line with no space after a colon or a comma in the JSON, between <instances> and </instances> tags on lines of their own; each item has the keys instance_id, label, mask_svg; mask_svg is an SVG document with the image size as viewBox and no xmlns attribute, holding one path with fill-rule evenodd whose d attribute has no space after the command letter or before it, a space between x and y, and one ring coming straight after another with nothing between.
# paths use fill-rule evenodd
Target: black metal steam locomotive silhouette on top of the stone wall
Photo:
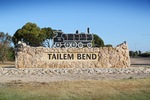
<instances>
[{"instance_id":1,"label":"black metal steam locomotive silhouette on top of the stone wall","mask_svg":"<svg viewBox=\"0 0 150 100\"><path fill-rule=\"evenodd\" d=\"M92 47L93 34L90 34L89 28L87 28L87 33L75 34L64 34L62 31L55 32L56 36L53 37L53 46L56 48L66 47L66 48L83 48L87 46Z\"/></svg>"}]
</instances>

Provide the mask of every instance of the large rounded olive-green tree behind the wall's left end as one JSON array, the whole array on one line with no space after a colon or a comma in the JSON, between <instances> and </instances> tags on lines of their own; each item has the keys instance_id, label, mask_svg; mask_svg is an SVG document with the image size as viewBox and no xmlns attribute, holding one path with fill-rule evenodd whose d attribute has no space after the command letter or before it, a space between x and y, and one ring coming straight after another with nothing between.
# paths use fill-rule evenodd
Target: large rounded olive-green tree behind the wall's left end
<instances>
[{"instance_id":1,"label":"large rounded olive-green tree behind the wall's left end","mask_svg":"<svg viewBox=\"0 0 150 100\"><path fill-rule=\"evenodd\" d=\"M30 46L42 46L45 37L46 34L41 32L35 23L28 22L15 32L12 40L15 46L17 46L18 41L23 41Z\"/></svg>"}]
</instances>

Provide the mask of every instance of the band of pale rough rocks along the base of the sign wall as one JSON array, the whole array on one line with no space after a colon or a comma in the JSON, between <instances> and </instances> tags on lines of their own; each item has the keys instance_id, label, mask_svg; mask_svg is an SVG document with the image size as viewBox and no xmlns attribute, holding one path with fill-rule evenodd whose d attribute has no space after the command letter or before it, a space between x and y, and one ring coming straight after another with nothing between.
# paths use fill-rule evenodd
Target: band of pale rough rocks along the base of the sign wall
<instances>
[{"instance_id":1,"label":"band of pale rough rocks along the base of the sign wall","mask_svg":"<svg viewBox=\"0 0 150 100\"><path fill-rule=\"evenodd\" d=\"M1 68L0 76L25 75L99 75L99 74L150 74L149 68Z\"/></svg>"}]
</instances>

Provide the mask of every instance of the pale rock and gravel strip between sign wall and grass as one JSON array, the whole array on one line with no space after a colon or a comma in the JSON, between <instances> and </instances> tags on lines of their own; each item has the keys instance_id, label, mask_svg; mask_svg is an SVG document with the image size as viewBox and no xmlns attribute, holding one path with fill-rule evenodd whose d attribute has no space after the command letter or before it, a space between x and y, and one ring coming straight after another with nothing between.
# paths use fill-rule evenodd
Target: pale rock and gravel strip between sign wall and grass
<instances>
[{"instance_id":1,"label":"pale rock and gravel strip between sign wall and grass","mask_svg":"<svg viewBox=\"0 0 150 100\"><path fill-rule=\"evenodd\" d=\"M54 82L150 78L150 68L0 68L0 82Z\"/></svg>"}]
</instances>

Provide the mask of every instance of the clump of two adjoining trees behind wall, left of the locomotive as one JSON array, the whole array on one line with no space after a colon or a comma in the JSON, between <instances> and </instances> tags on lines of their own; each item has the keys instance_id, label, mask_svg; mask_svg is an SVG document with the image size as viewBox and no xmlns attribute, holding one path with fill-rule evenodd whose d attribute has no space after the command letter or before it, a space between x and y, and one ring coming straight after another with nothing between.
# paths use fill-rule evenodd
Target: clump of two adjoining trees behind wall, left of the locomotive
<instances>
[{"instance_id":1,"label":"clump of two adjoining trees behind wall, left of the locomotive","mask_svg":"<svg viewBox=\"0 0 150 100\"><path fill-rule=\"evenodd\" d=\"M53 30L50 27L40 29L35 23L28 22L15 32L12 40L15 46L18 41L23 41L30 46L50 47L53 36Z\"/></svg>"}]
</instances>

